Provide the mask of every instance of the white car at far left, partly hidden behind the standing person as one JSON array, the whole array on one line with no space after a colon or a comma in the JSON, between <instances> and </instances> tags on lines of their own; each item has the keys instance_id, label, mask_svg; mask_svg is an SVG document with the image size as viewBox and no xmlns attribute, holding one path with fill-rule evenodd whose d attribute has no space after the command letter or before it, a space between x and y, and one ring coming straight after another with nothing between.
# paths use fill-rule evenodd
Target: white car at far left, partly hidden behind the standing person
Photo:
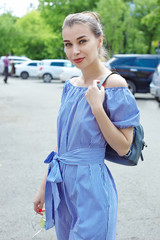
<instances>
[{"instance_id":1,"label":"white car at far left, partly hidden behind the standing person","mask_svg":"<svg viewBox=\"0 0 160 240\"><path fill-rule=\"evenodd\" d=\"M4 72L4 62L3 62L4 58L5 58L5 56L0 57L0 74L3 74L3 72ZM13 71L13 66L15 66L16 64L21 64L25 61L30 60L27 57L19 57L19 56L9 56L8 59L10 60L10 65L9 65L9 73L10 74Z\"/></svg>"}]
</instances>

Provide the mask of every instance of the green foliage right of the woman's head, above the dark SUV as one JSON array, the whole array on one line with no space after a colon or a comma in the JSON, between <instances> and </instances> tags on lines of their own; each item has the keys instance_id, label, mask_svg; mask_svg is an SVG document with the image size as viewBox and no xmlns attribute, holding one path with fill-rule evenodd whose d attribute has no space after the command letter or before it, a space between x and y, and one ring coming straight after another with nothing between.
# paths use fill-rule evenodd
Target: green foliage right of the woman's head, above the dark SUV
<instances>
[{"instance_id":1,"label":"green foliage right of the woman's head, above the dark SUV","mask_svg":"<svg viewBox=\"0 0 160 240\"><path fill-rule=\"evenodd\" d=\"M100 0L106 47L115 53L155 53L160 40L160 0Z\"/></svg>"}]
</instances>

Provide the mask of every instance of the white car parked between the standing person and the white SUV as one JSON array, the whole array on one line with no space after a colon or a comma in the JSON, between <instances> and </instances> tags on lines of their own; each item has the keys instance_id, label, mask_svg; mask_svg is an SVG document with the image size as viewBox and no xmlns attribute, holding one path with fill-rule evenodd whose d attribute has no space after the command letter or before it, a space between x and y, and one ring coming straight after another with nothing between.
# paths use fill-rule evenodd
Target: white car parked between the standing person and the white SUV
<instances>
[{"instance_id":1,"label":"white car parked between the standing person and the white SUV","mask_svg":"<svg viewBox=\"0 0 160 240\"><path fill-rule=\"evenodd\" d=\"M26 61L20 65L15 65L15 75L22 79L28 77L38 77L38 70L41 65L39 60Z\"/></svg>"}]
</instances>

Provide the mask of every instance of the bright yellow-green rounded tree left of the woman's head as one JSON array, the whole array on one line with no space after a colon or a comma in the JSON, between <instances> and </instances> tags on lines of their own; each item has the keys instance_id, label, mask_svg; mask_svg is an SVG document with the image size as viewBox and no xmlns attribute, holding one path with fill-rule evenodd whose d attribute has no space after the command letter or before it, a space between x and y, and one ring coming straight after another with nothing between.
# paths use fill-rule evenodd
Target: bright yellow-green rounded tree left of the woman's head
<instances>
[{"instance_id":1,"label":"bright yellow-green rounded tree left of the woman's head","mask_svg":"<svg viewBox=\"0 0 160 240\"><path fill-rule=\"evenodd\" d=\"M31 59L55 58L57 37L36 10L26 14L16 22L19 29L17 54L25 54Z\"/></svg>"}]
</instances>

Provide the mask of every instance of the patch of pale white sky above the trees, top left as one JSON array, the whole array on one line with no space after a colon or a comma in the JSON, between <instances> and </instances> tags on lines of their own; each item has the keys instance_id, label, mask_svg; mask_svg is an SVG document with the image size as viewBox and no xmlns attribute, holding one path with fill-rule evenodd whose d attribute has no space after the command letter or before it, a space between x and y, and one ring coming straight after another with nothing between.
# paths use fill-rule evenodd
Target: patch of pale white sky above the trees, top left
<instances>
[{"instance_id":1,"label":"patch of pale white sky above the trees, top left","mask_svg":"<svg viewBox=\"0 0 160 240\"><path fill-rule=\"evenodd\" d=\"M29 10L30 4L35 8L38 6L38 0L0 0L0 14L12 11L12 15L23 17Z\"/></svg>"}]
</instances>

